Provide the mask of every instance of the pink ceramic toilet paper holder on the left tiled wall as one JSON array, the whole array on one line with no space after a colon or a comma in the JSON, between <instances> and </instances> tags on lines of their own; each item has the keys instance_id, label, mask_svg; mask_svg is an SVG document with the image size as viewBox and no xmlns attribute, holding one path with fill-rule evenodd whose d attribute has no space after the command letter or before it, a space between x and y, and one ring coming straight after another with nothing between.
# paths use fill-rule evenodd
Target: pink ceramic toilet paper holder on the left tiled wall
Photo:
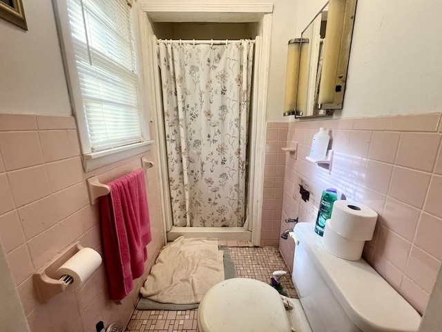
<instances>
[{"instance_id":1,"label":"pink ceramic toilet paper holder on the left tiled wall","mask_svg":"<svg viewBox=\"0 0 442 332\"><path fill-rule=\"evenodd\" d=\"M57 279L57 277L55 277L55 271L83 248L79 242L74 243L55 257L55 259L52 259L44 268L34 273L34 286L37 290L40 302L47 303L51 297L63 293L70 285L67 277L65 278L66 281L64 281L63 277Z\"/></svg>"}]
</instances>

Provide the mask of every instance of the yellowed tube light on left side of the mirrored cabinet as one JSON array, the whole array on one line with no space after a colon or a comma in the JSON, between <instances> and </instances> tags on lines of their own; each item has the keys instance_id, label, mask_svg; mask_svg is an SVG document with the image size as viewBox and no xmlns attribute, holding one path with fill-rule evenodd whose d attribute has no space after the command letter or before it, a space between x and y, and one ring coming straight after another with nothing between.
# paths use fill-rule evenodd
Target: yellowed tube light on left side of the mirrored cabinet
<instances>
[{"instance_id":1,"label":"yellowed tube light on left side of the mirrored cabinet","mask_svg":"<svg viewBox=\"0 0 442 332\"><path fill-rule=\"evenodd\" d=\"M302 112L296 111L296 96L298 95L301 45L307 42L307 38L294 38L289 40L285 72L284 116L302 116Z\"/></svg>"}]
</instances>

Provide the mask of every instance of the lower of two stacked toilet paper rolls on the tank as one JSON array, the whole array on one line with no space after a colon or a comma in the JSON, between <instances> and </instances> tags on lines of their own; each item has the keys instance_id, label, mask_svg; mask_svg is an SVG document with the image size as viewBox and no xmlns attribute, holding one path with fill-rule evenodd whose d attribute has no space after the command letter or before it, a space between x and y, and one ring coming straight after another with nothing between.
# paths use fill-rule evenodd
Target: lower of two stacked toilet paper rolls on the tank
<instances>
[{"instance_id":1,"label":"lower of two stacked toilet paper rolls on the tank","mask_svg":"<svg viewBox=\"0 0 442 332\"><path fill-rule=\"evenodd\" d=\"M342 237L330 227L330 219L325 222L323 247L332 255L349 261L357 261L361 259L364 244L364 240Z\"/></svg>"}]
</instances>

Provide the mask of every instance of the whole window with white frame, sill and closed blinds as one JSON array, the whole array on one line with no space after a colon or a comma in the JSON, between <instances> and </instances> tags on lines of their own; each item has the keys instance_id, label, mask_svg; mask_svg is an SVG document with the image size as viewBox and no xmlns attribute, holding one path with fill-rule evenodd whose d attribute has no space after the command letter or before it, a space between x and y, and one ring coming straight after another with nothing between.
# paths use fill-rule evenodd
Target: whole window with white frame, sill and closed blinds
<instances>
[{"instance_id":1,"label":"whole window with white frame, sill and closed blinds","mask_svg":"<svg viewBox=\"0 0 442 332\"><path fill-rule=\"evenodd\" d=\"M128 0L55 1L86 171L148 149Z\"/></svg>"}]
</instances>

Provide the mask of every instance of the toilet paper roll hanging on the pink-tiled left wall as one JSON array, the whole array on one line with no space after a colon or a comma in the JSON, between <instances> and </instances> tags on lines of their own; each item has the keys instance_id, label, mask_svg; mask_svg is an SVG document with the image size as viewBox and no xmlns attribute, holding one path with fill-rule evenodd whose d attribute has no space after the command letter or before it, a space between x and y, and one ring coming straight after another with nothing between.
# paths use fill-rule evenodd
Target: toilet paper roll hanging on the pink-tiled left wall
<instances>
[{"instance_id":1,"label":"toilet paper roll hanging on the pink-tiled left wall","mask_svg":"<svg viewBox=\"0 0 442 332\"><path fill-rule=\"evenodd\" d=\"M70 275L73 277L72 285L79 286L102 264L102 257L91 248L81 248L73 257L70 257L56 271L56 277Z\"/></svg>"}]
</instances>

